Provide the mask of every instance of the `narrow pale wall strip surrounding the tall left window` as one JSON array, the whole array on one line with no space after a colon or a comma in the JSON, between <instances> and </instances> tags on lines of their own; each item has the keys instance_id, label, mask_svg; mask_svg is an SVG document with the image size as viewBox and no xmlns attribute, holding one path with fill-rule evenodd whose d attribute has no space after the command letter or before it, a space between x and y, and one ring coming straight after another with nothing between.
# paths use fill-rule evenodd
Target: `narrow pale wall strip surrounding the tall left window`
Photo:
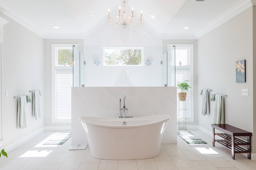
<instances>
[{"instance_id":1,"label":"narrow pale wall strip surrounding the tall left window","mask_svg":"<svg viewBox=\"0 0 256 170\"><path fill-rule=\"evenodd\" d=\"M82 39L45 39L44 40L44 98L45 98L45 125L70 126L70 123L52 123L52 44L78 44L83 47ZM80 51L83 49L81 48Z\"/></svg>"}]
</instances>

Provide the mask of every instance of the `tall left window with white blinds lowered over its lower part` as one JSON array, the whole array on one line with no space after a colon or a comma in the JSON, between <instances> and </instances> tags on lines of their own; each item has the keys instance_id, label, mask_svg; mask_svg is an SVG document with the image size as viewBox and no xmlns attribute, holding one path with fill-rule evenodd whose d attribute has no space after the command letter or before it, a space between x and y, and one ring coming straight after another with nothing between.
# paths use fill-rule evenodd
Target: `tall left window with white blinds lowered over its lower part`
<instances>
[{"instance_id":1,"label":"tall left window with white blinds lowered over its lower part","mask_svg":"<svg viewBox=\"0 0 256 170\"><path fill-rule=\"evenodd\" d=\"M71 123L73 46L52 44L52 123Z\"/></svg>"}]
</instances>

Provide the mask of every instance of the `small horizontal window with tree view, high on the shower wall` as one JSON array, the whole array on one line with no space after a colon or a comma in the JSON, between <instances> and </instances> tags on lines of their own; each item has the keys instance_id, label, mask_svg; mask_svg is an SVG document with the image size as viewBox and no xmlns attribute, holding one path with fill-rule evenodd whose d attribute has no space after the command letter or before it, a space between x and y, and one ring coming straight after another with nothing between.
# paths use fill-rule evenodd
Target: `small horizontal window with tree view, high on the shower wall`
<instances>
[{"instance_id":1,"label":"small horizontal window with tree view, high on the shower wall","mask_svg":"<svg viewBox=\"0 0 256 170\"><path fill-rule=\"evenodd\" d=\"M143 47L103 47L104 66L142 66Z\"/></svg>"}]
</instances>

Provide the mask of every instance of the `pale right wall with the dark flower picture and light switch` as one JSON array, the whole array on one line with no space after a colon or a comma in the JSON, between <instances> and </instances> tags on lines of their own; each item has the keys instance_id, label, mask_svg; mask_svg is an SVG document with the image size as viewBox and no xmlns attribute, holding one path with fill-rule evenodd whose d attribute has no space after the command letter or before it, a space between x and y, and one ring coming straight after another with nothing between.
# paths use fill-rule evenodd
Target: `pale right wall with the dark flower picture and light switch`
<instances>
[{"instance_id":1,"label":"pale right wall with the dark flower picture and light switch","mask_svg":"<svg viewBox=\"0 0 256 170\"><path fill-rule=\"evenodd\" d=\"M224 98L225 123L253 132L253 47L252 7L198 39L198 92L204 88ZM246 83L236 83L235 62L246 59ZM196 62L195 62L196 63ZM241 89L249 96L241 96ZM198 95L198 93L195 95ZM196 105L196 103L198 103ZM210 102L210 115L201 115L202 97L195 110L198 125L212 131L215 102Z\"/></svg>"}]
</instances>

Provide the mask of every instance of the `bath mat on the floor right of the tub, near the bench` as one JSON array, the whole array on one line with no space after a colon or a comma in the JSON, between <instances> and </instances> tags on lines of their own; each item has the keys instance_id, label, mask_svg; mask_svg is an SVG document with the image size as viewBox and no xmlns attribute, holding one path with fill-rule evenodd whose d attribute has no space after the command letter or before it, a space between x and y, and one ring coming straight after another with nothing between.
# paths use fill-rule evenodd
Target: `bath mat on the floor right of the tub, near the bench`
<instances>
[{"instance_id":1,"label":"bath mat on the floor right of the tub, near the bench","mask_svg":"<svg viewBox=\"0 0 256 170\"><path fill-rule=\"evenodd\" d=\"M190 131L177 131L177 134L186 141L186 143L191 143L191 144L206 144L205 141L202 139L196 138L194 134Z\"/></svg>"}]
</instances>

